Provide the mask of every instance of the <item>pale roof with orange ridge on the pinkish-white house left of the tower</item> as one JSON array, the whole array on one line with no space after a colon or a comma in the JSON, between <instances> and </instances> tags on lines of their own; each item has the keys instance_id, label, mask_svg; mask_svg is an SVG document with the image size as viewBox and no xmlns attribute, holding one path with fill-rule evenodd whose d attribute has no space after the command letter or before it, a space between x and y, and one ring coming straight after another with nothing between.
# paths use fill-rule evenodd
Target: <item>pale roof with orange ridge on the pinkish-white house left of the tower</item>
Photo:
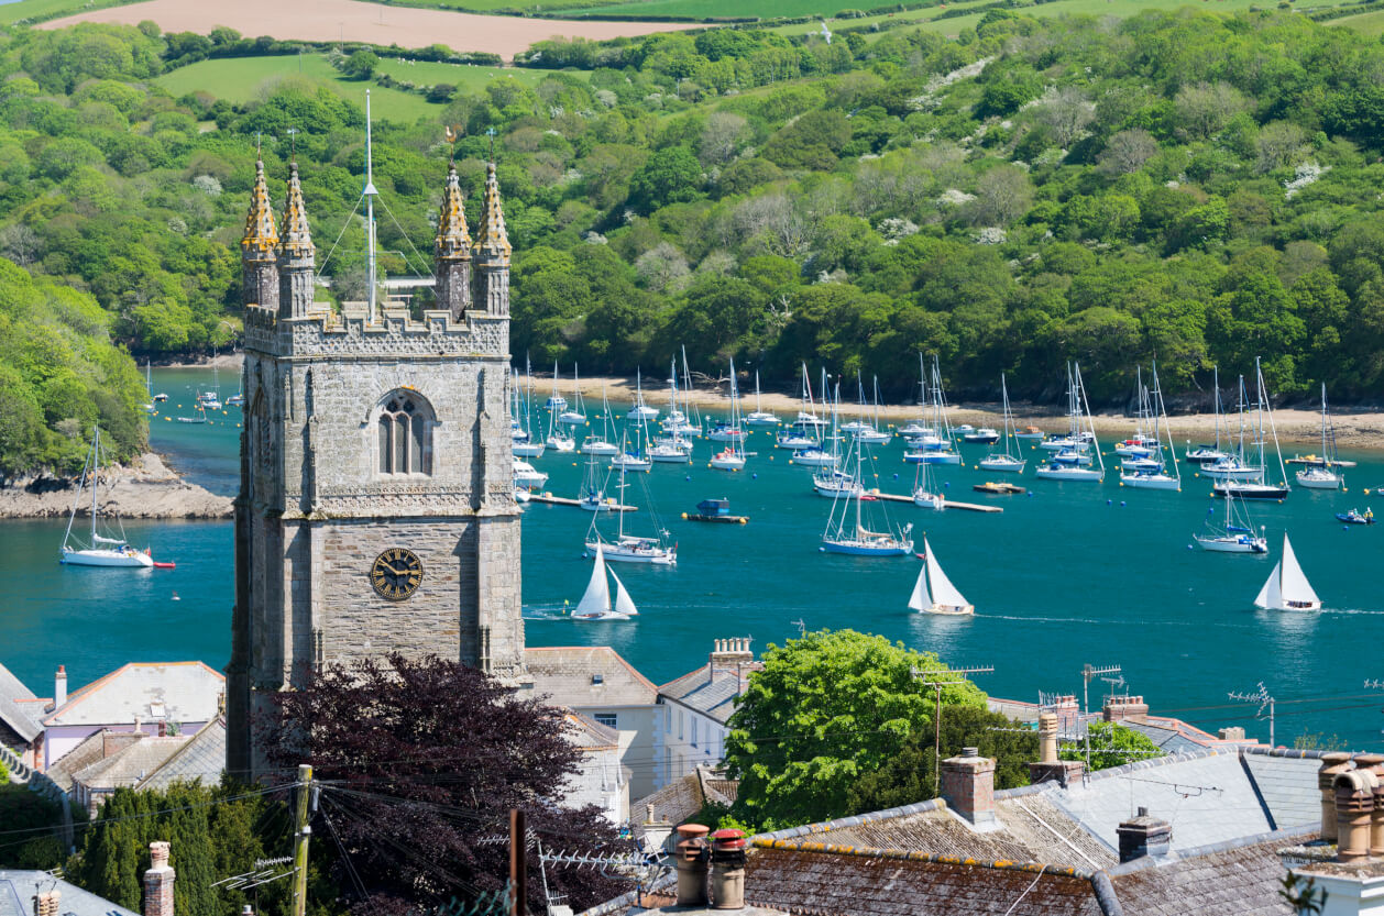
<instances>
[{"instance_id":1,"label":"pale roof with orange ridge on the pinkish-white house left of the tower","mask_svg":"<svg viewBox=\"0 0 1384 916\"><path fill-rule=\"evenodd\" d=\"M44 725L125 725L144 721L209 722L226 678L201 661L134 661L68 696Z\"/></svg>"}]
</instances>

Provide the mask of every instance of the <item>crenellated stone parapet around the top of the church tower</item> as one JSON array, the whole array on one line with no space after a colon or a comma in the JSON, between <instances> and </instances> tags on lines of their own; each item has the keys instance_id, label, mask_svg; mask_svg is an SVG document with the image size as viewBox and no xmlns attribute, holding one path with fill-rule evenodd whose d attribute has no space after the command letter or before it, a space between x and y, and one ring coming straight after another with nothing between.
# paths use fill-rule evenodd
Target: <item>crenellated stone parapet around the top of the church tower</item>
<instances>
[{"instance_id":1,"label":"crenellated stone parapet around the top of the church tower","mask_svg":"<svg viewBox=\"0 0 1384 916\"><path fill-rule=\"evenodd\" d=\"M509 318L468 310L453 321L446 310L415 321L403 309L382 309L374 324L365 303L346 303L302 318L275 309L245 307L245 347L277 357L493 357L509 358Z\"/></svg>"}]
</instances>

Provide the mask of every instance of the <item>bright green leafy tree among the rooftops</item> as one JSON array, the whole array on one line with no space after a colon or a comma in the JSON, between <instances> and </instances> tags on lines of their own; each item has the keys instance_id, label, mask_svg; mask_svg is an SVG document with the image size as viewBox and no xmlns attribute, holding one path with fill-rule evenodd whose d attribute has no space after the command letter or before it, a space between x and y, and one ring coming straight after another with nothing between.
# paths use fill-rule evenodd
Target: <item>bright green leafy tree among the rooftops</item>
<instances>
[{"instance_id":1,"label":"bright green leafy tree among the rooftops","mask_svg":"<svg viewBox=\"0 0 1384 916\"><path fill-rule=\"evenodd\" d=\"M779 829L853 814L857 783L930 733L934 695L918 674L945 672L931 653L853 630L770 645L729 722L734 816ZM958 681L943 703L984 710L985 695Z\"/></svg>"}]
</instances>

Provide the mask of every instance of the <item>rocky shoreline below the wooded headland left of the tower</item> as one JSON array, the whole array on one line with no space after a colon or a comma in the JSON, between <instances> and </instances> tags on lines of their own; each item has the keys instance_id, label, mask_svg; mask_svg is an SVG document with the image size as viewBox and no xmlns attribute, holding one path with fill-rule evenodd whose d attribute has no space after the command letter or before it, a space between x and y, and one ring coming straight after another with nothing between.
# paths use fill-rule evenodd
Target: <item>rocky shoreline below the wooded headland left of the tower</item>
<instances>
[{"instance_id":1,"label":"rocky shoreline below the wooded headland left of the tower","mask_svg":"<svg viewBox=\"0 0 1384 916\"><path fill-rule=\"evenodd\" d=\"M165 459L145 452L129 465L115 465L101 473L102 491L97 500L102 513L122 519L228 519L231 498L185 482ZM109 479L113 477L113 483ZM75 479L35 475L17 479L0 488L0 519L54 519L72 512ZM86 501L83 501L86 502ZM90 517L91 506L78 508L79 517Z\"/></svg>"}]
</instances>

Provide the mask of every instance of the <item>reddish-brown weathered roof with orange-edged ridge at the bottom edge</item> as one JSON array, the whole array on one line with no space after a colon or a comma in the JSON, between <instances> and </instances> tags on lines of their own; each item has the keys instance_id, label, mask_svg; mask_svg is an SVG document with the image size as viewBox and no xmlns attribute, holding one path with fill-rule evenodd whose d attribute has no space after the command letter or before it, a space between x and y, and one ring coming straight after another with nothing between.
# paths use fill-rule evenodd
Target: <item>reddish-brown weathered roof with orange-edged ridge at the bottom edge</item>
<instances>
[{"instance_id":1,"label":"reddish-brown weathered roof with orange-edged ridge at the bottom edge","mask_svg":"<svg viewBox=\"0 0 1384 916\"><path fill-rule=\"evenodd\" d=\"M756 847L745 866L746 902L794 915L1103 916L1092 876L1071 869L786 840Z\"/></svg>"}]
</instances>

